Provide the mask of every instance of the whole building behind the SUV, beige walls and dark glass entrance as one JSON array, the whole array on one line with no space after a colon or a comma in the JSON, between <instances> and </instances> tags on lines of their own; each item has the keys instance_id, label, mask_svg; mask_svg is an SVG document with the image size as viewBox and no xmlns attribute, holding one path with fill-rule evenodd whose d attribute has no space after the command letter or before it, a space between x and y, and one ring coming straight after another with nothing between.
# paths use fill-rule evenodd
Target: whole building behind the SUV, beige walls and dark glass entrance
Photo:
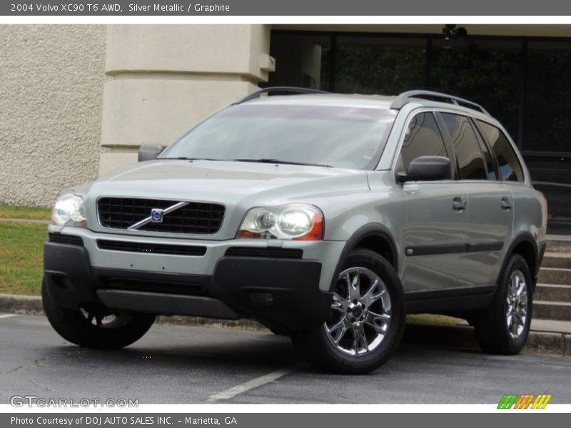
<instances>
[{"instance_id":1,"label":"whole building behind the SUV, beige walls and dark glass entrance","mask_svg":"<svg viewBox=\"0 0 571 428\"><path fill-rule=\"evenodd\" d=\"M448 34L443 27L51 26L47 33L45 26L16 27L14 52L1 54L20 62L2 68L4 80L24 72L43 98L18 80L8 88L12 113L1 109L9 132L1 133L0 148L16 161L0 172L8 183L0 203L48 205L64 185L136 162L141 144L166 146L258 87L382 94L425 88L472 99L500 119L547 195L550 231L570 233L571 26L467 25ZM54 47L58 32L58 40L75 42L61 53ZM38 39L44 43L34 44ZM31 61L41 82L26 54L41 56ZM30 103L36 111L46 103L45 112L26 123L21 113ZM46 133L41 146L38 135ZM26 191L16 197L19 186Z\"/></svg>"}]
</instances>

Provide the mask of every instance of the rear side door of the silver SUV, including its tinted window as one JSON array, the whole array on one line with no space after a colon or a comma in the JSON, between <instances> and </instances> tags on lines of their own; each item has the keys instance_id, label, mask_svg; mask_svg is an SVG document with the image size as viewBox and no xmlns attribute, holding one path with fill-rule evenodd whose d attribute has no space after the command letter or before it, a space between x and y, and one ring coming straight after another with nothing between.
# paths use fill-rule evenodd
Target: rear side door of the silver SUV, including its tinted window
<instances>
[{"instance_id":1,"label":"rear side door of the silver SUV, including its tinted window","mask_svg":"<svg viewBox=\"0 0 571 428\"><path fill-rule=\"evenodd\" d=\"M512 193L502 183L490 148L473 120L454 113L440 113L440 118L468 195L466 246L460 255L457 286L487 292L495 285L512 233Z\"/></svg>"}]
</instances>

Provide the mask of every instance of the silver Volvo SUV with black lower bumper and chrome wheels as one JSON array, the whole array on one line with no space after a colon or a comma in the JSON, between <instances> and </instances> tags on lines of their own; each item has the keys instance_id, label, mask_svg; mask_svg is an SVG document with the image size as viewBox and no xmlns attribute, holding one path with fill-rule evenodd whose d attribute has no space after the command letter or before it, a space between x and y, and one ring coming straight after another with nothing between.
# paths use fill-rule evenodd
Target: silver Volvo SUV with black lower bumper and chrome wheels
<instances>
[{"instance_id":1,"label":"silver Volvo SUV with black lower bumper and chrome wheels","mask_svg":"<svg viewBox=\"0 0 571 428\"><path fill-rule=\"evenodd\" d=\"M123 347L158 314L249 317L360 373L407 313L435 312L486 352L525 345L547 206L475 103L266 88L139 159L54 205L44 307L70 342Z\"/></svg>"}]
</instances>

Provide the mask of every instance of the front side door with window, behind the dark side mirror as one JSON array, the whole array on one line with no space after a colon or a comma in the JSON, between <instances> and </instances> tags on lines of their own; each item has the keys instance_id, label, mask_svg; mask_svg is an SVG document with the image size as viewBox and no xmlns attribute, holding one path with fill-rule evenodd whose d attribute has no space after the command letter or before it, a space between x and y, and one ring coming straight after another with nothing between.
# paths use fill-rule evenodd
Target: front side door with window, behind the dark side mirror
<instances>
[{"instance_id":1,"label":"front side door with window, behind the dark side mirror","mask_svg":"<svg viewBox=\"0 0 571 428\"><path fill-rule=\"evenodd\" d=\"M450 158L434 113L411 118L395 165L406 172L420 156ZM454 177L455 170L452 171ZM408 300L435 296L453 289L465 246L466 193L456 180L411 181L403 184L408 198L408 221L403 228L405 257L402 278Z\"/></svg>"}]
</instances>

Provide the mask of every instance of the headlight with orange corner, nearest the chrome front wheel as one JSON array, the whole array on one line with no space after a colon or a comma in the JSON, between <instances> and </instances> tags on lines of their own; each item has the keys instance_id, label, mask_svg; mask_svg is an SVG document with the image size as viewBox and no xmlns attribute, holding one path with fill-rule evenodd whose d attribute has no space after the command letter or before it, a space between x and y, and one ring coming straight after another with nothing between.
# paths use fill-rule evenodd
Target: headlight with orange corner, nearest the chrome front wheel
<instances>
[{"instance_id":1,"label":"headlight with orange corner, nearest the chrome front wheel","mask_svg":"<svg viewBox=\"0 0 571 428\"><path fill-rule=\"evenodd\" d=\"M313 205L252 208L246 213L236 238L323 239L323 213Z\"/></svg>"}]
</instances>

